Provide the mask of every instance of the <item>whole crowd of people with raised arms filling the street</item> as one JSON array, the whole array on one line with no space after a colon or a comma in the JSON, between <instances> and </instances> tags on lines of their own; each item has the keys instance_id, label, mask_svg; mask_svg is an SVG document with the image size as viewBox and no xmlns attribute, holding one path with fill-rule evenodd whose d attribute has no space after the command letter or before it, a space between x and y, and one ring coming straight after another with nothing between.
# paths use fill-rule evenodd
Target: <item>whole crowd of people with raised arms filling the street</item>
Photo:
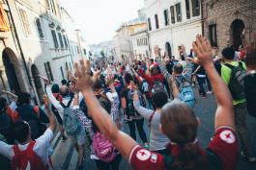
<instances>
[{"instance_id":1,"label":"whole crowd of people with raised arms filling the street","mask_svg":"<svg viewBox=\"0 0 256 170\"><path fill-rule=\"evenodd\" d=\"M0 98L0 133L7 140L0 141L0 154L11 160L12 169L53 169L49 143L58 122L62 141L68 137L78 153L79 170L86 169L86 142L99 170L118 170L122 158L133 169L236 169L236 130L242 156L256 161L245 122L246 110L256 117L256 36L248 44L245 31L240 52L227 41L222 57L198 35L189 55L185 45L179 46L179 61L161 56L156 45L156 60L74 63L75 74L69 71L69 81L63 80L61 86L42 77L45 111L31 105L33 90L2 90L13 100L9 105ZM196 136L205 123L193 110L196 82L201 98L214 94L217 102L215 134L205 149ZM122 132L122 116L129 134ZM149 140L144 119L149 122ZM143 146L136 141L136 130Z\"/></svg>"}]
</instances>

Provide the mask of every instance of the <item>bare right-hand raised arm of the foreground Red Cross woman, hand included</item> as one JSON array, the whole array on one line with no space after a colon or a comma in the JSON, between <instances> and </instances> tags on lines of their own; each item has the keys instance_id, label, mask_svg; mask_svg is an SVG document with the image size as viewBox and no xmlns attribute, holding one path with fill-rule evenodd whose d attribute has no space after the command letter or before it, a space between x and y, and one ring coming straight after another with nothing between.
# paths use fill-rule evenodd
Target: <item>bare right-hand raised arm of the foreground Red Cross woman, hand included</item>
<instances>
[{"instance_id":1,"label":"bare right-hand raised arm of the foreground Red Cross woman, hand included","mask_svg":"<svg viewBox=\"0 0 256 170\"><path fill-rule=\"evenodd\" d=\"M233 99L228 86L223 82L213 65L212 47L209 41L205 43L203 38L197 38L197 45L193 42L193 48L197 54L197 60L187 58L196 64L202 65L209 76L217 101L215 113L215 130L221 126L228 126L235 129L235 115Z\"/></svg>"}]
</instances>

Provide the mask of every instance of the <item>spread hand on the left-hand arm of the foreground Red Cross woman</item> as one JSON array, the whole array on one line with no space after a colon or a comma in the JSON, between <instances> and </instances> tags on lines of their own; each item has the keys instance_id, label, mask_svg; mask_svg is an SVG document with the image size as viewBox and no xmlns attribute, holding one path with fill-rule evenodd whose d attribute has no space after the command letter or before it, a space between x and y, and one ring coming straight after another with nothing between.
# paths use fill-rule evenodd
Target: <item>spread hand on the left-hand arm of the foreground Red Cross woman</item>
<instances>
[{"instance_id":1,"label":"spread hand on the left-hand arm of the foreground Red Cross woman","mask_svg":"<svg viewBox=\"0 0 256 170\"><path fill-rule=\"evenodd\" d=\"M86 68L84 65L84 61L80 60L80 67L77 63L74 63L75 68L75 76L69 70L69 75L71 76L72 82L74 82L76 88L83 92L87 92L92 90L92 86L95 85L96 77L91 77L91 68L90 68L90 61L86 61ZM99 71L97 72L99 73ZM96 73L96 74L97 74Z\"/></svg>"}]
</instances>

